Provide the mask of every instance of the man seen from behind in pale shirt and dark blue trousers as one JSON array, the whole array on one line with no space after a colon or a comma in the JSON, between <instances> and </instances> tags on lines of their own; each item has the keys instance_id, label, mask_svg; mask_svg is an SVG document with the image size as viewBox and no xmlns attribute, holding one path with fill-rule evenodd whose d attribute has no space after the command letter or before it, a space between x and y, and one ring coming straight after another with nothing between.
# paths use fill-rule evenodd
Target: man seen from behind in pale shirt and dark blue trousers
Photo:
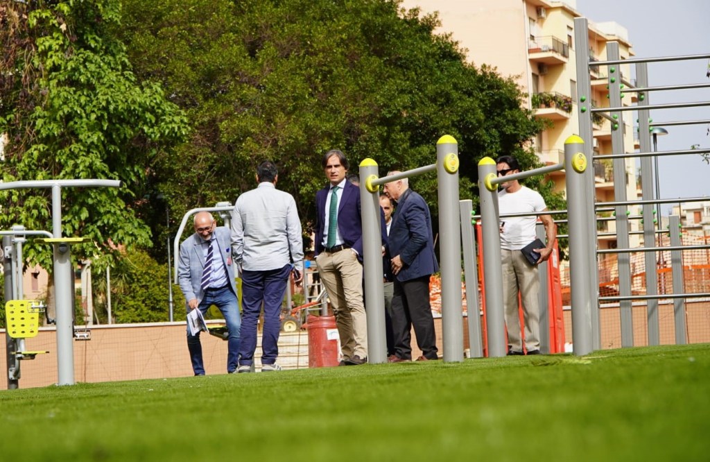
<instances>
[{"instance_id":1,"label":"man seen from behind in pale shirt and dark blue trousers","mask_svg":"<svg viewBox=\"0 0 710 462\"><path fill-rule=\"evenodd\" d=\"M293 196L276 189L278 170L263 161L256 170L256 189L237 198L231 220L231 246L241 272L241 344L237 372L253 370L256 327L263 303L261 372L276 365L281 330L281 302L293 272L300 284L303 274L301 222Z\"/></svg>"}]
</instances>

